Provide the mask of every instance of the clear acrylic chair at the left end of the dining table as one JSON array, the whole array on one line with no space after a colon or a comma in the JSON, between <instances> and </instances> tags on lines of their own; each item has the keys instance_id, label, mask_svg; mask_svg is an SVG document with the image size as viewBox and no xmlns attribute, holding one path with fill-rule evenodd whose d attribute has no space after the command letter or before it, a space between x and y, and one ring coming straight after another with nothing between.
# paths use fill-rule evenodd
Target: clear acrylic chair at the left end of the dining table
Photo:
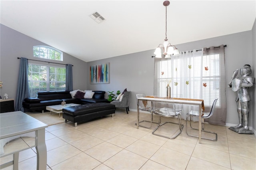
<instances>
[{"instance_id":1,"label":"clear acrylic chair at the left end of the dining table","mask_svg":"<svg viewBox=\"0 0 256 170\"><path fill-rule=\"evenodd\" d=\"M156 123L156 122L152 122L153 121L153 102L148 102L148 101L138 101L139 97L145 97L146 95L144 93L140 93L140 94L136 94L136 101L137 101L137 106L139 107L140 111L147 111L150 112L150 121L139 121L139 125L140 127L144 127L144 128L151 128L152 127L152 123ZM139 119L139 118L138 118ZM140 123L142 122L149 122L150 123L150 127L145 127L143 125L140 125ZM135 123L135 125L137 125L137 123Z\"/></svg>"}]
</instances>

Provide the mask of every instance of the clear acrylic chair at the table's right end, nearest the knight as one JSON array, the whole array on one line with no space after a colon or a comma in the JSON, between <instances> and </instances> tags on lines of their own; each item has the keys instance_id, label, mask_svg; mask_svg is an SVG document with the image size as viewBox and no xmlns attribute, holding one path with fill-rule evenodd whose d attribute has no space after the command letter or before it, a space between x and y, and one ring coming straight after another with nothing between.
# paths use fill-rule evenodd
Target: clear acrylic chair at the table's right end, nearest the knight
<instances>
[{"instance_id":1,"label":"clear acrylic chair at the table's right end, nearest the knight","mask_svg":"<svg viewBox=\"0 0 256 170\"><path fill-rule=\"evenodd\" d=\"M212 117L213 113L214 113L214 109L215 109L215 106L216 106L216 103L217 103L217 100L218 99L215 99L213 104L212 104L212 109L209 113L206 113L204 112L204 114L202 115L202 131L204 132L207 132L207 133L212 133L212 134L215 134L215 138L207 138L207 137L201 137L203 139L208 139L208 140L214 140L216 141L217 138L218 138L218 135L217 133L215 132L210 132L210 131L207 131L207 130L204 130L204 119L209 119L210 117ZM199 112L198 111L190 111L190 113L187 114L187 118L186 118L186 134L188 136L193 136L193 137L197 137L196 135L193 135L193 134L188 134L188 117L190 117L190 128L192 129L195 129L195 130L198 130L197 128L193 128L192 125L191 125L191 117L199 117Z\"/></svg>"}]
</instances>

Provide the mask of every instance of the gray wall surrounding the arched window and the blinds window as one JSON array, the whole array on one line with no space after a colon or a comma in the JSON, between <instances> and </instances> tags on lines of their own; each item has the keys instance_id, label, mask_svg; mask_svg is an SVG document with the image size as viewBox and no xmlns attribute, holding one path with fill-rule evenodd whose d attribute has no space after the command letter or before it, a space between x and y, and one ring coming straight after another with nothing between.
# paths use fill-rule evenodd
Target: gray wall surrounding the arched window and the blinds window
<instances>
[{"instance_id":1,"label":"gray wall surrounding the arched window and the blinds window","mask_svg":"<svg viewBox=\"0 0 256 170\"><path fill-rule=\"evenodd\" d=\"M44 60L33 57L34 45L47 45L38 40L30 38L20 32L12 30L4 25L0 25L1 30L1 48L0 48L0 80L3 87L0 89L0 95L3 97L7 93L9 98L16 98L18 71L20 67L20 59L17 57L26 57L28 59ZM40 33L38 33L40 34ZM45 61L45 60L44 60ZM31 63L39 63L49 65L45 62L31 61ZM73 88L86 89L87 80L87 63L73 57L67 53L63 53L63 61L52 60L54 63L72 64L73 66ZM56 66L64 66L60 64L50 64Z\"/></svg>"}]
</instances>

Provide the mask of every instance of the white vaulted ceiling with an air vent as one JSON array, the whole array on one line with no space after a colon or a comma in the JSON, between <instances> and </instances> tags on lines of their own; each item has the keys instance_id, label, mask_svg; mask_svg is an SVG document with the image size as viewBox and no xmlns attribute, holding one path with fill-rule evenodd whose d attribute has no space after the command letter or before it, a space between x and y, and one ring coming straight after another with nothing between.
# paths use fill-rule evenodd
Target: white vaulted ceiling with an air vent
<instances>
[{"instance_id":1,"label":"white vaulted ceiling with an air vent","mask_svg":"<svg viewBox=\"0 0 256 170\"><path fill-rule=\"evenodd\" d=\"M0 22L88 62L154 49L163 43L163 2L1 0ZM94 12L106 20L96 23L90 18ZM244 32L252 30L255 18L256 0L170 0L167 38L176 45Z\"/></svg>"}]
</instances>

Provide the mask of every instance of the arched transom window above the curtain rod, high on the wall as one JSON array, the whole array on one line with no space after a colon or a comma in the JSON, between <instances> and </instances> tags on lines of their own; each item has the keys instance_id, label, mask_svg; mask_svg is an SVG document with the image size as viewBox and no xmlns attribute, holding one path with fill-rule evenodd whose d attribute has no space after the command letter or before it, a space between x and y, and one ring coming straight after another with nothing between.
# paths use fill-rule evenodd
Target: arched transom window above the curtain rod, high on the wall
<instances>
[{"instance_id":1,"label":"arched transom window above the curtain rod, high on the wall","mask_svg":"<svg viewBox=\"0 0 256 170\"><path fill-rule=\"evenodd\" d=\"M63 53L53 47L48 46L34 46L33 47L34 57L45 58L45 59L54 59L63 61Z\"/></svg>"}]
</instances>

